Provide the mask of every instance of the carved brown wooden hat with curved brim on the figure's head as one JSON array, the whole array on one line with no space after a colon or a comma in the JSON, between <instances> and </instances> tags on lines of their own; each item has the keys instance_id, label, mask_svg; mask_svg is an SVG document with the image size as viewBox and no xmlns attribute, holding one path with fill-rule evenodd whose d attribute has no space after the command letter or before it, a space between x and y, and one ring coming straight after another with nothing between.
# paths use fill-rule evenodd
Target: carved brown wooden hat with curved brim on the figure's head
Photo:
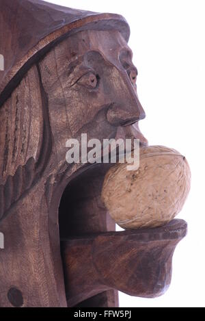
<instances>
[{"instance_id":1,"label":"carved brown wooden hat with curved brim on the figure's head","mask_svg":"<svg viewBox=\"0 0 205 321\"><path fill-rule=\"evenodd\" d=\"M0 106L28 68L52 45L74 32L117 29L126 41L130 30L118 14L61 7L40 0L0 0ZM2 56L1 56L2 57Z\"/></svg>"}]
</instances>

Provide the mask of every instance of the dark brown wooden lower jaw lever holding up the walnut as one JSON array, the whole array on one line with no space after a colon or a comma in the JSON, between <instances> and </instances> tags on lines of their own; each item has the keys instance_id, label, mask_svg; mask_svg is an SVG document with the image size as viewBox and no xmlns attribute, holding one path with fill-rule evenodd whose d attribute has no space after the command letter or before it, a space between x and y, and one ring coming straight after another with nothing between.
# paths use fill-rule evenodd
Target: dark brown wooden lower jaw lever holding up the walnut
<instances>
[{"instance_id":1,"label":"dark brown wooden lower jaw lever holding up the walnut","mask_svg":"<svg viewBox=\"0 0 205 321\"><path fill-rule=\"evenodd\" d=\"M109 289L146 298L163 294L171 281L174 248L186 233L186 222L172 220L151 230L98 233L61 242L68 306Z\"/></svg>"}]
</instances>

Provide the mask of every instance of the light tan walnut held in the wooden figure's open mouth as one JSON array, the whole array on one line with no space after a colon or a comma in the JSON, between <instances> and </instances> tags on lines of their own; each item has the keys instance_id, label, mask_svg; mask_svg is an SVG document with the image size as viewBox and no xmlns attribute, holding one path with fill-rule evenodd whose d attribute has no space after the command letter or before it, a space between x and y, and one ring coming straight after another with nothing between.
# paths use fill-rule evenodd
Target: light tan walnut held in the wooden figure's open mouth
<instances>
[{"instance_id":1,"label":"light tan walnut held in the wooden figure's open mouth","mask_svg":"<svg viewBox=\"0 0 205 321\"><path fill-rule=\"evenodd\" d=\"M102 201L116 223L125 229L159 227L182 209L189 194L191 172L187 159L164 146L140 149L138 170L115 164L105 175Z\"/></svg>"}]
</instances>

